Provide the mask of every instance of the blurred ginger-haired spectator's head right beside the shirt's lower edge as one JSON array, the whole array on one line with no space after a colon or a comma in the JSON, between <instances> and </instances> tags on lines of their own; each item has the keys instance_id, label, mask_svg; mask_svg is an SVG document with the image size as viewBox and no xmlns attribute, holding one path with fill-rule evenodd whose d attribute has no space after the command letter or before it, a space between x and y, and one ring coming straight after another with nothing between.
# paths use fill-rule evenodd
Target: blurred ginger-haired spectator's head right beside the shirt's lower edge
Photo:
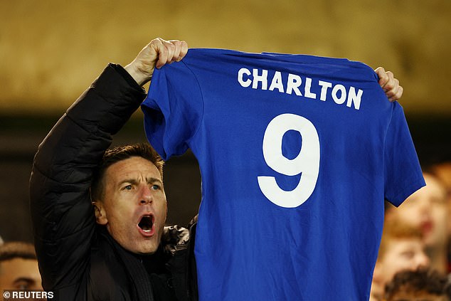
<instances>
[{"instance_id":1,"label":"blurred ginger-haired spectator's head right beside the shirt's lower edge","mask_svg":"<svg viewBox=\"0 0 451 301\"><path fill-rule=\"evenodd\" d=\"M423 234L419 228L397 220L387 221L383 226L381 245L371 283L371 301L383 300L387 282L400 270L427 267Z\"/></svg>"}]
</instances>

